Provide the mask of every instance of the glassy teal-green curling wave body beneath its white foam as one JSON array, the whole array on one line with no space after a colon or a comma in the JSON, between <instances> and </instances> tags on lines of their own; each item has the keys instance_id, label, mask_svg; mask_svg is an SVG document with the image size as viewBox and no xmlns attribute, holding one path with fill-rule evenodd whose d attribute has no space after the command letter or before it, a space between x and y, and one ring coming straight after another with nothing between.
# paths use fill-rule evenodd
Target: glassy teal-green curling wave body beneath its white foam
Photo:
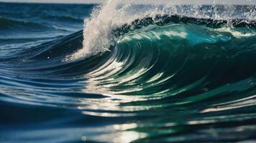
<instances>
[{"instance_id":1,"label":"glassy teal-green curling wave body beneath its white foam","mask_svg":"<svg viewBox=\"0 0 256 143\"><path fill-rule=\"evenodd\" d=\"M115 31L115 43L110 51L88 59L63 62L67 55L83 48L82 31L78 31L15 53L16 60L23 63L22 66L27 65L27 68L15 69L28 71L30 77L30 72L35 72L37 77L40 74L47 77L84 77L86 92L134 97L126 102L163 101L174 96L180 101L173 98L173 104L189 104L193 96L182 99L178 95L211 93L218 88L227 89L221 89L221 93L228 92L232 85L225 84L235 86L243 80L248 80L244 86L254 87L250 84L255 80L253 62L247 63L247 60L254 61L253 39L256 33L255 27L250 27L254 22L235 22L237 27L233 29L226 24L225 21L180 16L162 17L157 22L152 22L151 18L134 21L132 25ZM244 56L246 59L241 61ZM17 63L14 57L12 60ZM229 77L228 73L232 72L229 70L238 66L242 71ZM220 80L221 77L227 77L227 80L214 79ZM154 107L152 104L149 106ZM147 106L143 104L143 107Z\"/></svg>"}]
</instances>

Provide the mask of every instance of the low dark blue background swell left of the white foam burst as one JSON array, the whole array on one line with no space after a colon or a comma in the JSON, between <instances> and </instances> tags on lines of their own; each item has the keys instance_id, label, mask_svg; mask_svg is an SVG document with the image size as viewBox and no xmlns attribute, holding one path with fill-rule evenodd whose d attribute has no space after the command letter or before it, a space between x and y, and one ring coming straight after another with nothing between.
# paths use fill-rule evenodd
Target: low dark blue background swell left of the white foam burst
<instances>
[{"instance_id":1,"label":"low dark blue background swell left of the white foam burst","mask_svg":"<svg viewBox=\"0 0 256 143\"><path fill-rule=\"evenodd\" d=\"M13 36L20 34L35 34L35 32L41 32L42 34L48 34L49 31L74 31L74 29L78 29L78 26L71 26L72 24L80 24L81 19L78 19L73 16L42 16L40 19L43 20L31 20L31 19L9 19L6 17L0 16L0 34L6 35L10 34L11 36L7 36L9 39L13 39ZM55 22L58 21L58 22ZM68 27L70 26L70 27ZM14 32L15 31L15 32ZM76 30L75 30L76 31ZM12 36L13 35L13 36ZM27 36L27 35L26 35ZM35 35L32 35L35 36ZM1 37L4 39L6 37Z\"/></svg>"}]
</instances>

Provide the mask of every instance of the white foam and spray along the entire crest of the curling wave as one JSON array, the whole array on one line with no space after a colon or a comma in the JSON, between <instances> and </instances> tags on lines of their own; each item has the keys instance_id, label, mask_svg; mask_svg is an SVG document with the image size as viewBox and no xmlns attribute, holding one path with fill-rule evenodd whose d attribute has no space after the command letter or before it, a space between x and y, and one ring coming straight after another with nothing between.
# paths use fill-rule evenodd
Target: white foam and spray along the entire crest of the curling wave
<instances>
[{"instance_id":1,"label":"white foam and spray along the entire crest of the curling wave","mask_svg":"<svg viewBox=\"0 0 256 143\"><path fill-rule=\"evenodd\" d=\"M69 60L87 58L108 50L112 31L124 24L131 24L135 19L143 19L146 16L154 18L157 15L180 15L206 19L255 19L255 5L249 11L237 15L235 6L217 5L203 9L203 4L184 6L173 1L147 1L144 5L137 0L109 0L103 6L93 10L90 19L85 19L83 26L83 48L71 56ZM206 3L207 4L207 3ZM221 9L221 10L220 10Z\"/></svg>"}]
</instances>

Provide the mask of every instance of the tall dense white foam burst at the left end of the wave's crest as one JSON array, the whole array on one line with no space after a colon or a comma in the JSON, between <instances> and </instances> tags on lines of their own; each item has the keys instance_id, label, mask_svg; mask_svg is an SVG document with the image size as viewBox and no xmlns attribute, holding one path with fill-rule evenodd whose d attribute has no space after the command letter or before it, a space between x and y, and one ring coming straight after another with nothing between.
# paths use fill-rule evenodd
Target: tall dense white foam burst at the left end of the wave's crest
<instances>
[{"instance_id":1,"label":"tall dense white foam burst at the left end of the wave's crest","mask_svg":"<svg viewBox=\"0 0 256 143\"><path fill-rule=\"evenodd\" d=\"M132 9L135 1L110 0L104 6L94 9L91 19L84 21L83 49L73 54L71 59L88 57L107 50L111 46L111 32L114 29L145 15Z\"/></svg>"}]
</instances>

